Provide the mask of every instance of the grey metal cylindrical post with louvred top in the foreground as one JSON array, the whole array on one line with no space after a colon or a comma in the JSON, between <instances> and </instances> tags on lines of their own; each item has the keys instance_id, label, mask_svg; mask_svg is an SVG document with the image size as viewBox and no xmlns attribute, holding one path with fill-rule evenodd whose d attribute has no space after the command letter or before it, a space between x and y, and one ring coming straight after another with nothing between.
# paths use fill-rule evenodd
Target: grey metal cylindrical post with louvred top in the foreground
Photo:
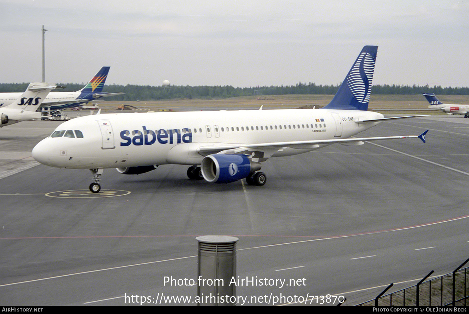
<instances>
[{"instance_id":1,"label":"grey metal cylindrical post with louvred top in the foreground","mask_svg":"<svg viewBox=\"0 0 469 314\"><path fill-rule=\"evenodd\" d=\"M204 235L197 237L198 306L234 306L236 285L230 285L236 277L236 237Z\"/></svg>"}]
</instances>

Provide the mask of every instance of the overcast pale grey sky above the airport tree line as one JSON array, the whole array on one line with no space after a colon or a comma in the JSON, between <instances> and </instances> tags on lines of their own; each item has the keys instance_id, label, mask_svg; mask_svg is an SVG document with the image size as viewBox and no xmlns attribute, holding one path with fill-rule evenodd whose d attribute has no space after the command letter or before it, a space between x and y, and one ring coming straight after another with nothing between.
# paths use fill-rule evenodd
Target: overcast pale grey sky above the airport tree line
<instances>
[{"instance_id":1,"label":"overcast pale grey sky above the airport tree line","mask_svg":"<svg viewBox=\"0 0 469 314\"><path fill-rule=\"evenodd\" d=\"M339 84L378 45L373 84L469 86L469 1L0 0L0 82Z\"/></svg>"}]
</instances>

